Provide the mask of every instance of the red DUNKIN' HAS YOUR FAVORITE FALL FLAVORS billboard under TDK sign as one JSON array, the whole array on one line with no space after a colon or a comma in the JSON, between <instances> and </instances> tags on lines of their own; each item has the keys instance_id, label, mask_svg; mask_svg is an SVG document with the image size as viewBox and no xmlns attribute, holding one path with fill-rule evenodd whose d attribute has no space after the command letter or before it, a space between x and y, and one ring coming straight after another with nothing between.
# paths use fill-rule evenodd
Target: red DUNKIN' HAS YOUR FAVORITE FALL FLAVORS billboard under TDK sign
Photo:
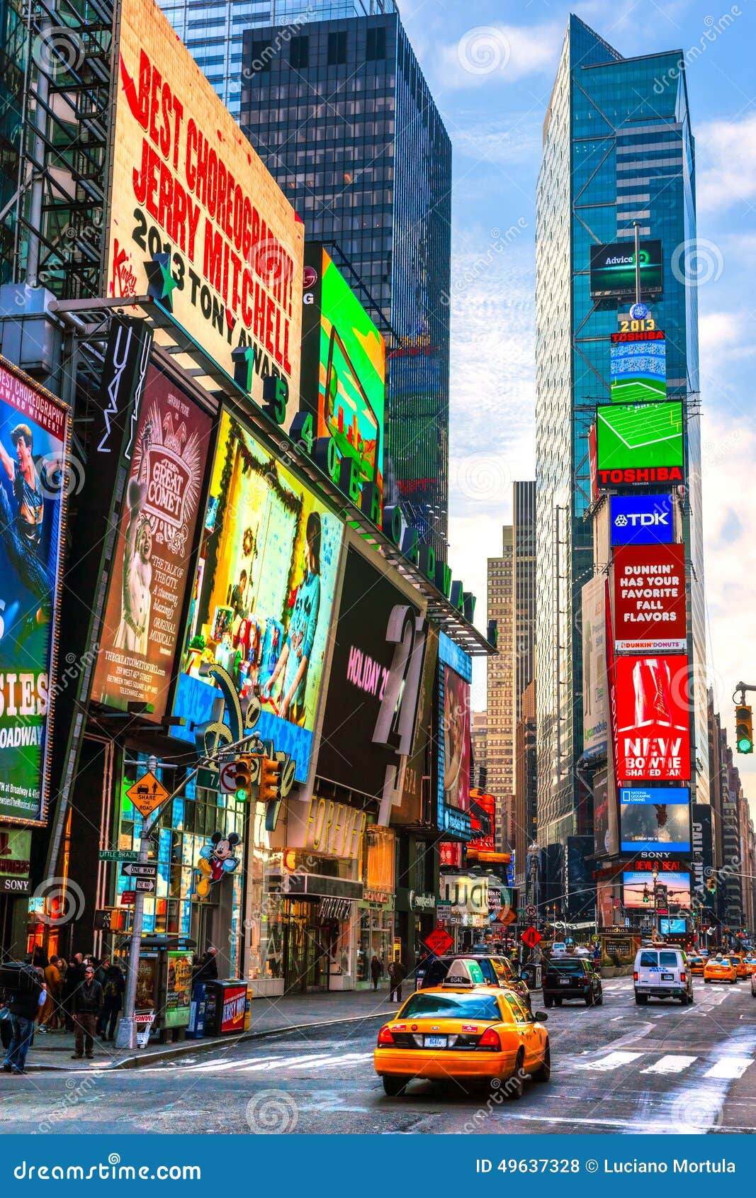
<instances>
[{"instance_id":1,"label":"red DUNKIN' HAS YOUR FAVORITE FALL FLAVORS billboard under TDK sign","mask_svg":"<svg viewBox=\"0 0 756 1198\"><path fill-rule=\"evenodd\" d=\"M684 651L685 546L621 545L615 550L612 575L616 651Z\"/></svg>"}]
</instances>

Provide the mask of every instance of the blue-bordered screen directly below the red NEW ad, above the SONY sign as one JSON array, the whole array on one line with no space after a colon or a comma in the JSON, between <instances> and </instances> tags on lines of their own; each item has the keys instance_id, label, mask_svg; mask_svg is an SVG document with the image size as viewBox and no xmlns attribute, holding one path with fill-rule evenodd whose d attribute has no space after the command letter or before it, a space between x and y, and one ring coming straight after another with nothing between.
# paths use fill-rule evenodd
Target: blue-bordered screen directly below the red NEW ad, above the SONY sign
<instances>
[{"instance_id":1,"label":"blue-bordered screen directly below the red NEW ad, above the SONY sign","mask_svg":"<svg viewBox=\"0 0 756 1198\"><path fill-rule=\"evenodd\" d=\"M687 786L619 788L621 848L690 852L690 791Z\"/></svg>"}]
</instances>

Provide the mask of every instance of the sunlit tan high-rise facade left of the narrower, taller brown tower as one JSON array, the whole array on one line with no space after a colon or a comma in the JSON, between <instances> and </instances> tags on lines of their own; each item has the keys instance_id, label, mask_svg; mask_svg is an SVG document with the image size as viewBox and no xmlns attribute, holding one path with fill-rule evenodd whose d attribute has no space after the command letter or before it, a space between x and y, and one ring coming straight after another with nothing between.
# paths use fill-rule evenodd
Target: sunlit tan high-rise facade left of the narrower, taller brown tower
<instances>
[{"instance_id":1,"label":"sunlit tan high-rise facade left of the narrower, taller brown tower","mask_svg":"<svg viewBox=\"0 0 756 1198\"><path fill-rule=\"evenodd\" d=\"M488 559L488 618L498 627L498 655L488 662L488 789L496 797L496 848L509 847L514 793L514 537L512 525L502 528L501 557Z\"/></svg>"}]
</instances>

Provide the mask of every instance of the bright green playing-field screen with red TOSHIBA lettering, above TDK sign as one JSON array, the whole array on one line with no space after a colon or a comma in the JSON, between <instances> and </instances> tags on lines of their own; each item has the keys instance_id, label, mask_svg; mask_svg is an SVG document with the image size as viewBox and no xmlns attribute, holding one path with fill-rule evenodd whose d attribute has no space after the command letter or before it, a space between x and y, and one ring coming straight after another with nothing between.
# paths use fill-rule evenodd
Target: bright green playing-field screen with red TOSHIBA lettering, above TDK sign
<instances>
[{"instance_id":1,"label":"bright green playing-field screen with red TOSHIBA lettering, above TDK sign","mask_svg":"<svg viewBox=\"0 0 756 1198\"><path fill-rule=\"evenodd\" d=\"M597 409L595 420L600 483L682 482L683 405L679 400L604 404ZM666 472L664 477L661 471Z\"/></svg>"}]
</instances>

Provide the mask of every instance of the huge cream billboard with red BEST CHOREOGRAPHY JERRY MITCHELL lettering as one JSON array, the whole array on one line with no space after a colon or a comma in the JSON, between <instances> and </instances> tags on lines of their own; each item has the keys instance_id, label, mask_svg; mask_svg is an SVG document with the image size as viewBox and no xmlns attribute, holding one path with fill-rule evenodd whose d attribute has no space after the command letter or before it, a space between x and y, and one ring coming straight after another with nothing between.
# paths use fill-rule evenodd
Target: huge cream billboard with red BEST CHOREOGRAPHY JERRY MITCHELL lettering
<instances>
[{"instance_id":1,"label":"huge cream billboard with red BEST CHOREOGRAPHY JERRY MITCHELL lettering","mask_svg":"<svg viewBox=\"0 0 756 1198\"><path fill-rule=\"evenodd\" d=\"M291 412L304 225L152 0L119 12L107 294L152 294L228 374L248 349Z\"/></svg>"}]
</instances>

